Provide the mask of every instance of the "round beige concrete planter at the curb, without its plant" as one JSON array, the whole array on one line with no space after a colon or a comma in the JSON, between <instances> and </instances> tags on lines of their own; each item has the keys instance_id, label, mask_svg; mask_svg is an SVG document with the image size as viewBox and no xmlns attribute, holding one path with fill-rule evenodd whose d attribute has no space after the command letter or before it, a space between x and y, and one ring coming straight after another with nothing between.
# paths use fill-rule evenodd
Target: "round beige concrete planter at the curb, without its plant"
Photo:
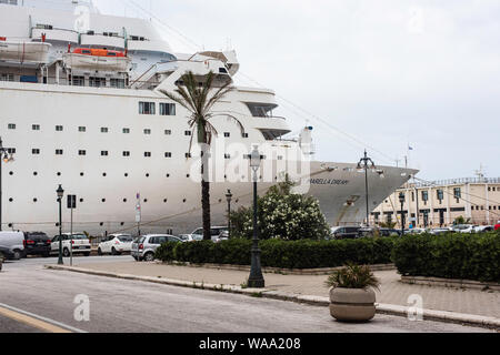
<instances>
[{"instance_id":1,"label":"round beige concrete planter at the curb, without its plant","mask_svg":"<svg viewBox=\"0 0 500 355\"><path fill-rule=\"evenodd\" d=\"M371 288L330 288L330 314L341 322L368 322L376 314Z\"/></svg>"}]
</instances>

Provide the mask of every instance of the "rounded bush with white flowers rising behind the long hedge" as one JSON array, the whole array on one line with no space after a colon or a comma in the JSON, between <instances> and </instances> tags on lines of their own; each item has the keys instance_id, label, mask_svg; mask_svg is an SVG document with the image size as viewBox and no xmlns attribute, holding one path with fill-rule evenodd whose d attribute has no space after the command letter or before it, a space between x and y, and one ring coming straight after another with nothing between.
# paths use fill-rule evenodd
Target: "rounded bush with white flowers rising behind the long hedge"
<instances>
[{"instance_id":1,"label":"rounded bush with white flowers rising behind the long hedge","mask_svg":"<svg viewBox=\"0 0 500 355\"><path fill-rule=\"evenodd\" d=\"M330 233L318 200L292 193L293 183L287 178L259 197L259 239L321 240ZM253 207L240 207L231 213L231 235L252 237Z\"/></svg>"}]
</instances>

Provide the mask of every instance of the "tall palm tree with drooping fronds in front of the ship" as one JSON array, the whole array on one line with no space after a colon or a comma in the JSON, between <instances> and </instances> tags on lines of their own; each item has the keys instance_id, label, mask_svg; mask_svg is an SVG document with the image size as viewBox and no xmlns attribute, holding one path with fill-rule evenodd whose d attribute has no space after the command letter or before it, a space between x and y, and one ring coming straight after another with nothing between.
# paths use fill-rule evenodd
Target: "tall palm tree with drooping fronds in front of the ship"
<instances>
[{"instance_id":1,"label":"tall palm tree with drooping fronds in front of the ship","mask_svg":"<svg viewBox=\"0 0 500 355\"><path fill-rule=\"evenodd\" d=\"M210 120L217 115L226 115L233 119L240 130L244 132L243 125L237 118L227 113L214 114L212 108L227 93L234 90L231 81L224 82L220 87L214 84L216 74L210 71L203 75L201 82L192 71L186 72L181 77L182 84L178 84L174 92L161 90L170 100L179 103L188 110L188 124L191 129L191 140L189 142L189 152L191 152L192 139L197 133L198 143L201 145L201 207L203 220L203 240L211 240L210 235L210 182L209 182L209 151L212 136L217 135L217 129Z\"/></svg>"}]
</instances>

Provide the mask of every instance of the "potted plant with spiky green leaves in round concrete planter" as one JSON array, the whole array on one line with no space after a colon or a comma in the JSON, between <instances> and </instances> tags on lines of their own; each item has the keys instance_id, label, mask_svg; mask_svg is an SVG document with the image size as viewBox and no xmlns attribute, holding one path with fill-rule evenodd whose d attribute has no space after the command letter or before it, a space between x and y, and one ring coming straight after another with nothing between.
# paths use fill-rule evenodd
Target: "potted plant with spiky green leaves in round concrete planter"
<instances>
[{"instance_id":1,"label":"potted plant with spiky green leaves in round concrete planter","mask_svg":"<svg viewBox=\"0 0 500 355\"><path fill-rule=\"evenodd\" d=\"M368 265L347 265L326 282L330 287L330 314L342 322L368 322L376 314L376 294L380 282Z\"/></svg>"}]
</instances>

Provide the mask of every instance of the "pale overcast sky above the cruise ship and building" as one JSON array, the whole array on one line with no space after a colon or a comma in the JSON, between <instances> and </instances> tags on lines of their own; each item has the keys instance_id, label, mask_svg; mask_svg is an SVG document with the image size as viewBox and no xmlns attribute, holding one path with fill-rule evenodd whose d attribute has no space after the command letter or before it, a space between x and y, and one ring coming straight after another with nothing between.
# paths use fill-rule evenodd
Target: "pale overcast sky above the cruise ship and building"
<instances>
[{"instance_id":1,"label":"pale overcast sky above the cruise ship and building","mask_svg":"<svg viewBox=\"0 0 500 355\"><path fill-rule=\"evenodd\" d=\"M318 160L357 162L367 148L382 165L409 155L421 179L473 176L480 163L500 176L498 0L94 3L152 10L174 52L234 49L237 82L273 89L294 130L309 119Z\"/></svg>"}]
</instances>

